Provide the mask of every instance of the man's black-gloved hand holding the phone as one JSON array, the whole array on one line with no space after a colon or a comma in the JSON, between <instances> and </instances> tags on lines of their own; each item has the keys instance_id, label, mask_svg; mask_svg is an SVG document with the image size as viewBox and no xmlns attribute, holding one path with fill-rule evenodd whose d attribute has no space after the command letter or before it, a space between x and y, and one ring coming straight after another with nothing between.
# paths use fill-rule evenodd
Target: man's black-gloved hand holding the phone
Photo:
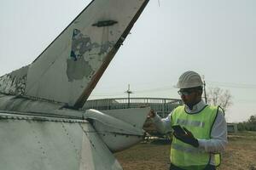
<instances>
[{"instance_id":1,"label":"man's black-gloved hand holding the phone","mask_svg":"<svg viewBox=\"0 0 256 170\"><path fill-rule=\"evenodd\" d=\"M194 147L198 147L199 146L199 143L198 143L198 140L195 139L193 133L191 133L187 128L183 127L184 131L186 133L173 133L173 135L175 136L175 138L183 141L183 143L186 143L186 144L191 144L192 146Z\"/></svg>"}]
</instances>

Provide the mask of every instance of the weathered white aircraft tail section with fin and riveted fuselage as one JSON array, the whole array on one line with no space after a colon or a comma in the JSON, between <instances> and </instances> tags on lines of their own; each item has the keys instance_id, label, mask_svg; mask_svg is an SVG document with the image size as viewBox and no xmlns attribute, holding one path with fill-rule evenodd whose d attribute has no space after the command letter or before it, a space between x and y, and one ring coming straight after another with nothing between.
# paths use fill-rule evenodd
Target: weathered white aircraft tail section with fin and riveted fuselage
<instances>
[{"instance_id":1,"label":"weathered white aircraft tail section with fin and riveted fuselage","mask_svg":"<svg viewBox=\"0 0 256 170\"><path fill-rule=\"evenodd\" d=\"M122 169L149 108L82 111L148 0L93 0L49 47L0 77L0 169Z\"/></svg>"}]
</instances>

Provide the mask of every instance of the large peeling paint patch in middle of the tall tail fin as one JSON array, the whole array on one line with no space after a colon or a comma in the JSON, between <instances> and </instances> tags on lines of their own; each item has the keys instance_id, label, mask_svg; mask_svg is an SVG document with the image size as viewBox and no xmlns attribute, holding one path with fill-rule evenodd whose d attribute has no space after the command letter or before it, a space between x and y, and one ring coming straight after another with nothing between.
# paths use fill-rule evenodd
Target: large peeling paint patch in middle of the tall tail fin
<instances>
[{"instance_id":1,"label":"large peeling paint patch in middle of the tall tail fin","mask_svg":"<svg viewBox=\"0 0 256 170\"><path fill-rule=\"evenodd\" d=\"M99 65L102 65L103 56L113 48L113 42L91 42L90 37L78 29L73 30L73 42L70 58L67 59L67 77L69 82L81 80L84 77L90 80Z\"/></svg>"}]
</instances>

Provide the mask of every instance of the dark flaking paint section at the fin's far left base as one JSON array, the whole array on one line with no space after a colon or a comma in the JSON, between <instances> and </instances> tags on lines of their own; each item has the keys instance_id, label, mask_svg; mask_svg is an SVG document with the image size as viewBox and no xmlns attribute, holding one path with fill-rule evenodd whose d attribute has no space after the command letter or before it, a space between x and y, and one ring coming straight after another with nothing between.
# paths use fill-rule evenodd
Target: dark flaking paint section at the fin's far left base
<instances>
[{"instance_id":1,"label":"dark flaking paint section at the fin's far left base","mask_svg":"<svg viewBox=\"0 0 256 170\"><path fill-rule=\"evenodd\" d=\"M28 66L0 77L0 92L4 94L25 94Z\"/></svg>"}]
</instances>

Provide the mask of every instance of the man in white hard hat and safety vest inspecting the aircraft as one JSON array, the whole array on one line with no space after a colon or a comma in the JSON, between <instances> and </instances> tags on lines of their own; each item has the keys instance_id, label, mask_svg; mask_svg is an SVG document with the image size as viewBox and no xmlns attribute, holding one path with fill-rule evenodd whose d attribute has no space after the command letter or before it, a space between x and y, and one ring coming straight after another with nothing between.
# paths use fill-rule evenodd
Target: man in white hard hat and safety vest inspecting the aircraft
<instances>
[{"instance_id":1,"label":"man in white hard hat and safety vest inspecting the aircraft","mask_svg":"<svg viewBox=\"0 0 256 170\"><path fill-rule=\"evenodd\" d=\"M149 116L160 133L174 130L171 147L172 170L214 170L227 142L227 124L219 106L201 99L203 82L195 71L184 72L177 82L184 105L161 119L153 110Z\"/></svg>"}]
</instances>

